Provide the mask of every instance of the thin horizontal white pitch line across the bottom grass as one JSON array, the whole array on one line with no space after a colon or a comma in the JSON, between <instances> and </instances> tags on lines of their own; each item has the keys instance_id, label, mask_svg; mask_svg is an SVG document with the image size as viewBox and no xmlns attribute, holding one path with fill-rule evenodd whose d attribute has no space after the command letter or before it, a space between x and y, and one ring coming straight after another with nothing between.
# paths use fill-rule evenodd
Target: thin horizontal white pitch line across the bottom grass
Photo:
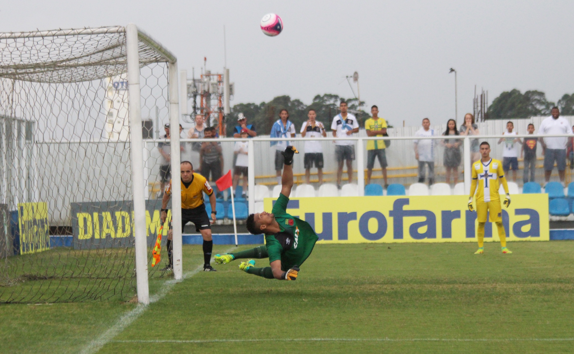
<instances>
[{"instance_id":1,"label":"thin horizontal white pitch line across the bottom grass","mask_svg":"<svg viewBox=\"0 0 574 354\"><path fill-rule=\"evenodd\" d=\"M293 338L293 339L212 339L212 340L114 340L113 343L237 343L237 342L525 342L525 341L542 341L542 342L559 342L559 341L574 341L574 338L477 338L477 339L464 339L464 338L407 338L407 339L393 339L393 338Z\"/></svg>"}]
</instances>

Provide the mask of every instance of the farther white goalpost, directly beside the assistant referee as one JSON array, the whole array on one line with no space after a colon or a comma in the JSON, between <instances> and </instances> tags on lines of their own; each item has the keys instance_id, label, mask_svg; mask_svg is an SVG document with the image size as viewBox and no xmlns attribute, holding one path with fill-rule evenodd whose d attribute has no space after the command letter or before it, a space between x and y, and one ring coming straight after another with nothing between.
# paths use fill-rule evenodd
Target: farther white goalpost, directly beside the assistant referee
<instances>
[{"instance_id":1,"label":"farther white goalpost, directly beside the assistant referee","mask_svg":"<svg viewBox=\"0 0 574 354\"><path fill-rule=\"evenodd\" d=\"M181 183L180 176L180 131L179 131L179 85L177 84L177 61L168 61L169 133L170 163L172 168L172 254L173 278L183 278L183 251L181 246Z\"/></svg>"}]
</instances>

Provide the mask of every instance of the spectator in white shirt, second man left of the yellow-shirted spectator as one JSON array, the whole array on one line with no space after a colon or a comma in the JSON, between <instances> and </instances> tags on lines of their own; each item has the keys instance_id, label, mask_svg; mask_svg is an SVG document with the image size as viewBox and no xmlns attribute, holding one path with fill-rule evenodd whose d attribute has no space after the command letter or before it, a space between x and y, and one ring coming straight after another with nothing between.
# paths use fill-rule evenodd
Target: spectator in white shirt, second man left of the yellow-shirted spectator
<instances>
[{"instance_id":1,"label":"spectator in white shirt, second man left of the yellow-shirted spectator","mask_svg":"<svg viewBox=\"0 0 574 354\"><path fill-rule=\"evenodd\" d=\"M319 138L321 136L327 136L323 123L315 120L317 113L314 109L309 109L307 118L309 118L309 120L301 125L301 137ZM311 167L315 164L317 176L319 176L319 186L323 184L323 147L320 141L305 141L305 156L303 160L305 166L305 181L309 183L309 180L311 180Z\"/></svg>"}]
</instances>

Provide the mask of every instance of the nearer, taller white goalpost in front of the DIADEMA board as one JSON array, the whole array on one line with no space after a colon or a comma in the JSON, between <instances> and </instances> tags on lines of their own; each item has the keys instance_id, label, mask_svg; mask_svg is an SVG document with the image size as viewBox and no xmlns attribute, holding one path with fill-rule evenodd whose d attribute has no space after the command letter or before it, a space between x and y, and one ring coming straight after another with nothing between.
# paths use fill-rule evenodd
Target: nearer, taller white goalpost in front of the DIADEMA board
<instances>
[{"instance_id":1,"label":"nearer, taller white goalpost in front of the DIADEMA board","mask_svg":"<svg viewBox=\"0 0 574 354\"><path fill-rule=\"evenodd\" d=\"M148 244L145 220L144 143L142 137L141 90L139 87L138 28L126 26L127 87L129 90L131 184L134 207L135 280L138 302L149 304ZM177 224L176 224L177 225Z\"/></svg>"}]
</instances>

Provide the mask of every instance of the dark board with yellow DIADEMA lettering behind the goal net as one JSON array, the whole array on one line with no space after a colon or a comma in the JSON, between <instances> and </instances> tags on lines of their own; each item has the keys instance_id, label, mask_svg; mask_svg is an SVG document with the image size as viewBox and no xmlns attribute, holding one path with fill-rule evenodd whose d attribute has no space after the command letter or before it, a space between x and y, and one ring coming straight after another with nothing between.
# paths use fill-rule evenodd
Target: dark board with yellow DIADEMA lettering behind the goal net
<instances>
[{"instance_id":1,"label":"dark board with yellow DIADEMA lettering behind the goal net","mask_svg":"<svg viewBox=\"0 0 574 354\"><path fill-rule=\"evenodd\" d=\"M129 247L134 245L133 203L131 201L71 203L74 249ZM148 246L156 242L160 230L161 200L146 201ZM168 221L162 234L168 234Z\"/></svg>"}]
</instances>

